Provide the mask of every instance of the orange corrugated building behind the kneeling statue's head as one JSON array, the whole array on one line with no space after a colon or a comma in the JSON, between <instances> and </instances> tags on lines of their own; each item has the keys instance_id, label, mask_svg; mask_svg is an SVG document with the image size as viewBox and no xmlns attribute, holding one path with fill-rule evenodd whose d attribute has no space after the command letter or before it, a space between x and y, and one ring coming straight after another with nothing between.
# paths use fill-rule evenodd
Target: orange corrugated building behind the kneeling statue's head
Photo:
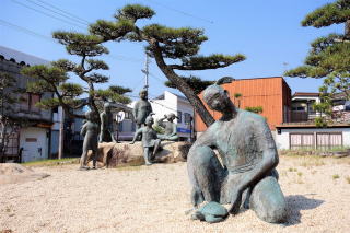
<instances>
[{"instance_id":1,"label":"orange corrugated building behind the kneeling statue's head","mask_svg":"<svg viewBox=\"0 0 350 233\"><path fill-rule=\"evenodd\" d=\"M241 79L234 80L232 83L222 84L221 86L229 91L232 101L234 93L243 94L240 105L241 109L262 106L264 112L260 115L267 117L267 121L272 131L276 130L276 125L283 123L284 113L291 112L291 89L282 77ZM199 94L199 97L202 101L202 93ZM237 98L234 104L238 106ZM207 105L206 107L213 114L215 120L220 119L220 113L210 110ZM195 129L200 133L205 131L207 127L197 113L195 113ZM272 135L275 136L275 133Z\"/></svg>"}]
</instances>

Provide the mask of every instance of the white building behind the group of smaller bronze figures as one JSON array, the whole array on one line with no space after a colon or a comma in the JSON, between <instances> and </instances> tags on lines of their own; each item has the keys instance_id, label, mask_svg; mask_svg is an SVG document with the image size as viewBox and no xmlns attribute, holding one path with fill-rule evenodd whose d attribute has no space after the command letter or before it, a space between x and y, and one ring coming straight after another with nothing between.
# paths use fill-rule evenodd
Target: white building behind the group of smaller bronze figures
<instances>
[{"instance_id":1,"label":"white building behind the group of smaller bronze figures","mask_svg":"<svg viewBox=\"0 0 350 233\"><path fill-rule=\"evenodd\" d=\"M133 108L136 101L130 104ZM164 115L174 113L179 119L175 119L174 123L177 125L177 135L182 141L189 141L190 135L190 117L194 116L194 107L190 105L189 101L182 95L177 95L165 91L164 94L150 100L153 113L154 121L164 118Z\"/></svg>"}]
</instances>

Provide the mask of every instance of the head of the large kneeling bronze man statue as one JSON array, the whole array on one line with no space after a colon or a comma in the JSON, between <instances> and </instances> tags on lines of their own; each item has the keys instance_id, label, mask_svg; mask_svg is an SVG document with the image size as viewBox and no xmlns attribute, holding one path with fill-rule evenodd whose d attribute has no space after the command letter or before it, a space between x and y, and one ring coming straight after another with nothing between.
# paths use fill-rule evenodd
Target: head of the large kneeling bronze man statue
<instances>
[{"instance_id":1,"label":"head of the large kneeling bronze man statue","mask_svg":"<svg viewBox=\"0 0 350 233\"><path fill-rule=\"evenodd\" d=\"M226 90L223 90L220 85L209 85L203 92L203 101L210 109L217 112L223 112L230 103L230 95Z\"/></svg>"}]
</instances>

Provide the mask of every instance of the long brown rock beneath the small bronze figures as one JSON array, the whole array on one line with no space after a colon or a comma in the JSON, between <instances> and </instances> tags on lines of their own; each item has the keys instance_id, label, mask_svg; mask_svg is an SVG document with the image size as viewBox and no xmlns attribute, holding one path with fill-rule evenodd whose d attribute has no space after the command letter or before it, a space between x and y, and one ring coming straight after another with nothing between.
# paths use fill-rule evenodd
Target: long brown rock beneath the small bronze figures
<instances>
[{"instance_id":1,"label":"long brown rock beneath the small bronze figures","mask_svg":"<svg viewBox=\"0 0 350 233\"><path fill-rule=\"evenodd\" d=\"M191 142L162 141L161 148L153 163L186 162ZM140 141L135 144L126 143L100 143L97 150L97 167L144 164L143 148ZM92 151L89 151L86 165L92 167Z\"/></svg>"}]
</instances>

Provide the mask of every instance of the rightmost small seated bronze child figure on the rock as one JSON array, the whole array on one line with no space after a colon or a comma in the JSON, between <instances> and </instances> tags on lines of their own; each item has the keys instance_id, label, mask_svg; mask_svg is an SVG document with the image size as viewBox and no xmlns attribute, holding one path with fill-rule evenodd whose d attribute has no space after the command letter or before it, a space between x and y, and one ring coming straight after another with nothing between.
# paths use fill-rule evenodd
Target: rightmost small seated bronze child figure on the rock
<instances>
[{"instance_id":1,"label":"rightmost small seated bronze child figure on the rock","mask_svg":"<svg viewBox=\"0 0 350 233\"><path fill-rule=\"evenodd\" d=\"M168 141L177 141L177 126L174 123L174 119L178 117L175 116L175 114L171 113L168 115L164 115L164 118L161 118L158 120L158 125L162 128L164 128L165 132L164 135L156 135L159 139L161 140L168 140ZM164 119L167 119L167 121L163 121Z\"/></svg>"}]
</instances>

